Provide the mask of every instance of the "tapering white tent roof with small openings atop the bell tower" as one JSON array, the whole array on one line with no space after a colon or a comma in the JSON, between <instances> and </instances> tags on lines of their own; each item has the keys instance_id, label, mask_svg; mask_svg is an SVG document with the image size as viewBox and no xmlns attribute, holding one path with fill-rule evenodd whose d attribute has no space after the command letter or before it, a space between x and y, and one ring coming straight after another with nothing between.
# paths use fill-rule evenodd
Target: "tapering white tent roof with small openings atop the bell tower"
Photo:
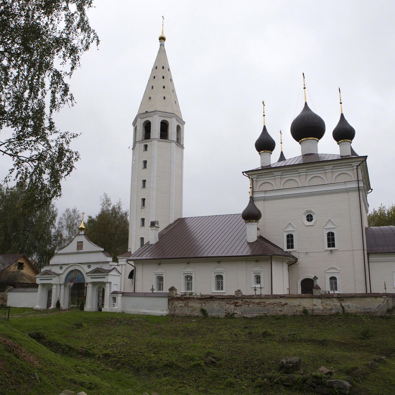
<instances>
[{"instance_id":1,"label":"tapering white tent roof with small openings atop the bell tower","mask_svg":"<svg viewBox=\"0 0 395 395\"><path fill-rule=\"evenodd\" d=\"M137 114L151 111L175 114L182 119L164 41L159 45L158 55Z\"/></svg>"}]
</instances>

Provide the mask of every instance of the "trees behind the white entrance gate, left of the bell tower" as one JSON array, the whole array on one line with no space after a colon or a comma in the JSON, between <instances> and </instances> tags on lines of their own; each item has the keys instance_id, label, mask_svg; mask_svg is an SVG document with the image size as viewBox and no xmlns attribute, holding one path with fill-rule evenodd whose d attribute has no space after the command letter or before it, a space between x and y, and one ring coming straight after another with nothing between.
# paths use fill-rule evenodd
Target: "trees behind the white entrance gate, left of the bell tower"
<instances>
[{"instance_id":1,"label":"trees behind the white entrance gate, left of the bell tower","mask_svg":"<svg viewBox=\"0 0 395 395\"><path fill-rule=\"evenodd\" d=\"M31 193L27 184L0 184L0 254L26 254L40 270L78 233L81 211L68 207L59 214L52 200L29 207L26 201ZM103 193L100 211L84 223L85 234L113 260L128 250L129 213L120 199L112 203Z\"/></svg>"}]
</instances>

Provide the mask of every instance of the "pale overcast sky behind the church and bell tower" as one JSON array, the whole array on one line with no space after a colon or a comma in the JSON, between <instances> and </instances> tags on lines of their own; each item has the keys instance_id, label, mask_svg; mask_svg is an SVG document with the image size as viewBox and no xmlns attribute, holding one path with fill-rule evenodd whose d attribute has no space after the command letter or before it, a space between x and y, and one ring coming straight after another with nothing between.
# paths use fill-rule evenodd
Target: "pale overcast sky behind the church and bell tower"
<instances>
[{"instance_id":1,"label":"pale overcast sky behind the church and bell tower","mask_svg":"<svg viewBox=\"0 0 395 395\"><path fill-rule=\"evenodd\" d=\"M254 142L266 126L280 154L300 155L290 125L308 103L326 125L320 153L339 153L332 130L343 110L368 155L370 210L395 203L394 37L392 1L94 0L89 12L99 49L85 53L71 79L77 101L55 117L61 130L80 132L81 154L62 183L59 211L77 206L94 215L100 195L128 209L132 121L158 52L165 16L166 52L182 118L183 216L240 213L248 201L243 170L260 166ZM310 95L309 95L310 94ZM311 96L311 98L310 98Z\"/></svg>"}]
</instances>

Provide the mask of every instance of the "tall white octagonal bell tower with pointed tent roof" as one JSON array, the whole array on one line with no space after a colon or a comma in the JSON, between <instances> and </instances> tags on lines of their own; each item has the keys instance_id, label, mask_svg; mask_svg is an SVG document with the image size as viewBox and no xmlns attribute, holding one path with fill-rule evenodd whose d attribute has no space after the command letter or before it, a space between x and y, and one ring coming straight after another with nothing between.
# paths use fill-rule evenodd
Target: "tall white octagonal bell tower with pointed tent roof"
<instances>
[{"instance_id":1,"label":"tall white octagonal bell tower with pointed tent roof","mask_svg":"<svg viewBox=\"0 0 395 395\"><path fill-rule=\"evenodd\" d=\"M149 242L151 221L160 229L182 216L184 124L165 50L159 51L133 121L129 250Z\"/></svg>"}]
</instances>

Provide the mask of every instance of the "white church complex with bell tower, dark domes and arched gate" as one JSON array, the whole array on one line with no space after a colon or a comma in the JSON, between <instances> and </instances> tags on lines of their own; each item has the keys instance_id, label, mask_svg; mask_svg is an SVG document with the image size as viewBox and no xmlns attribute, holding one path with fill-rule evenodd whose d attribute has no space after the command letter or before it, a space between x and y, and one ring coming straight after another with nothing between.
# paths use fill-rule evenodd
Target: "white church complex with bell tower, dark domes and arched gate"
<instances>
[{"instance_id":1,"label":"white church complex with bell tower, dark domes and arched gate","mask_svg":"<svg viewBox=\"0 0 395 395\"><path fill-rule=\"evenodd\" d=\"M333 129L339 153L319 152L325 122L305 100L290 125L300 156L286 159L281 149L273 161L265 122L257 133L260 166L244 171L243 213L182 216L185 122L165 40L162 30L133 121L129 251L112 262L82 223L37 276L36 308L57 299L68 308L78 278L86 310L128 312L139 310L139 296L155 304L171 287L186 295L310 294L316 284L327 293L395 293L395 227L368 227L367 156L352 149L355 130L342 110Z\"/></svg>"}]
</instances>

